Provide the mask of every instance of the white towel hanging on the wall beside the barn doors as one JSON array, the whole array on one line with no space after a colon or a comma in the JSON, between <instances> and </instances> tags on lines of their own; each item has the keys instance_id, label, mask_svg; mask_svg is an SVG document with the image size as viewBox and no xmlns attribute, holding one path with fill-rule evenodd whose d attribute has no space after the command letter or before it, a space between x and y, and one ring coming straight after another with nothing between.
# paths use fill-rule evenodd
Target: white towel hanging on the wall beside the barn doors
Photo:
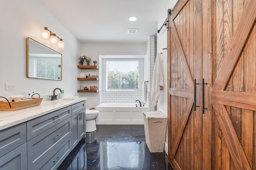
<instances>
[{"instance_id":1,"label":"white towel hanging on the wall beside the barn doors","mask_svg":"<svg viewBox=\"0 0 256 170\"><path fill-rule=\"evenodd\" d=\"M156 61L153 72L152 79L152 89L151 89L151 101L152 105L155 106L158 99L161 96L161 89L164 88L164 77L162 71L162 54L158 53L156 55Z\"/></svg>"}]
</instances>

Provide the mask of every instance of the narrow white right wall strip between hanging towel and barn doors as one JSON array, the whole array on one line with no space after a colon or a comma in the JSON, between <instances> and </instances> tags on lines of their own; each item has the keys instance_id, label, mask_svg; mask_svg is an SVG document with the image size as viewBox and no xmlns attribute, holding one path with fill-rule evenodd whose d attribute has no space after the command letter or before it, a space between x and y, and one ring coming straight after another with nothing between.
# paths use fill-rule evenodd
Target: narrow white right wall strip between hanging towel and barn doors
<instances>
[{"instance_id":1,"label":"narrow white right wall strip between hanging towel and barn doors","mask_svg":"<svg viewBox=\"0 0 256 170\"><path fill-rule=\"evenodd\" d=\"M160 29L162 24L164 23L166 17L167 17L167 10L172 9L174 5L176 4L177 0L171 1L169 0L168 4L166 5L165 9L162 11L162 14L160 15L158 22L157 22L157 28ZM161 97L158 100L157 109L162 111L164 114L167 115L168 113L168 103L167 103L167 97L168 97L168 89L167 89L167 50L163 50L163 48L167 48L167 29L164 26L160 33L157 34L157 52L162 52L162 63L163 63L163 74L164 74L164 89L161 90ZM168 154L168 141L167 141L167 131L166 131L166 141L165 141L165 147L164 150Z\"/></svg>"}]
</instances>

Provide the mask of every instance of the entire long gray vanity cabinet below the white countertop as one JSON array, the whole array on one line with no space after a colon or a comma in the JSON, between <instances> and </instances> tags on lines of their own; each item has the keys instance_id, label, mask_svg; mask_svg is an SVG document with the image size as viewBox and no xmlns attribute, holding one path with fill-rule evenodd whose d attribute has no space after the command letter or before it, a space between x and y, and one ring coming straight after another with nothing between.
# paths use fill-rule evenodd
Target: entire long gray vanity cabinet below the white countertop
<instances>
[{"instance_id":1,"label":"entire long gray vanity cabinet below the white countertop","mask_svg":"<svg viewBox=\"0 0 256 170\"><path fill-rule=\"evenodd\" d=\"M82 101L0 131L0 170L56 170L85 135L85 123Z\"/></svg>"}]
</instances>

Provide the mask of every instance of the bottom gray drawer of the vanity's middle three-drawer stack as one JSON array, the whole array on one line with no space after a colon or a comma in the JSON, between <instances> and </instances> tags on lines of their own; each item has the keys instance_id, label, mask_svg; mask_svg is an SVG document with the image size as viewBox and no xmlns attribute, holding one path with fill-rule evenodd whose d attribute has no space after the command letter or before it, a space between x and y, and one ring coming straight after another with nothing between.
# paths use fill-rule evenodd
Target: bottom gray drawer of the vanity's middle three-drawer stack
<instances>
[{"instance_id":1,"label":"bottom gray drawer of the vanity's middle three-drawer stack","mask_svg":"<svg viewBox=\"0 0 256 170\"><path fill-rule=\"evenodd\" d=\"M66 139L54 149L36 168L33 170L55 170L71 152L71 140Z\"/></svg>"}]
</instances>

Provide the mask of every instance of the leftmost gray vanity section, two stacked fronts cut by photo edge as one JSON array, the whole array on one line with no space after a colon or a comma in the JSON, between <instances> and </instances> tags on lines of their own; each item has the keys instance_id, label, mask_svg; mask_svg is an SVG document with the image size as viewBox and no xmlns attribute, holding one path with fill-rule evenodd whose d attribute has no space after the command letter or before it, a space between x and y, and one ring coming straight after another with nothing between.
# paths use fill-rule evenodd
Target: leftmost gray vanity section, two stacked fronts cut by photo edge
<instances>
[{"instance_id":1,"label":"leftmost gray vanity section, two stacked fronts cut by photo edge","mask_svg":"<svg viewBox=\"0 0 256 170\"><path fill-rule=\"evenodd\" d=\"M26 123L0 131L0 170L27 169Z\"/></svg>"}]
</instances>

